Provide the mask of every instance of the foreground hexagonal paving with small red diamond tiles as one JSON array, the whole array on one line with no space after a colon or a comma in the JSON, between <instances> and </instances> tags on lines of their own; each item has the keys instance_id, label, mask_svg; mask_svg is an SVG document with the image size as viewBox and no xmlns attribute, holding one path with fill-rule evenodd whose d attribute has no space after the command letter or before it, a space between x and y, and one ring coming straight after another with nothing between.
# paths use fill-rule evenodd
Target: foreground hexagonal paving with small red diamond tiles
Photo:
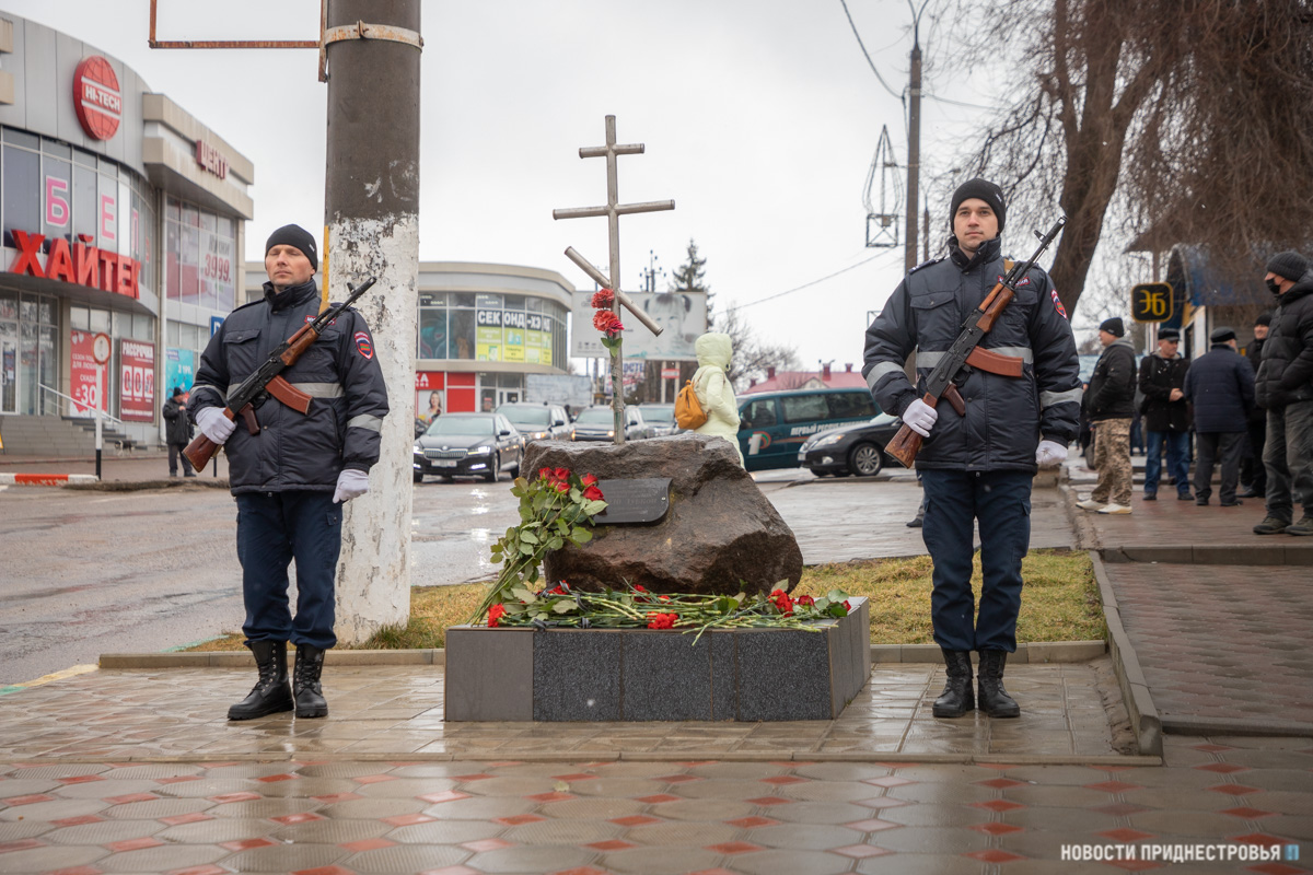
<instances>
[{"instance_id":1,"label":"foreground hexagonal paving with small red diamond tiles","mask_svg":"<svg viewBox=\"0 0 1313 875\"><path fill-rule=\"evenodd\" d=\"M1064 845L1313 840L1313 745L1162 767L911 762L0 765L3 872L1116 872ZM1308 871L1229 863L1191 872Z\"/></svg>"}]
</instances>

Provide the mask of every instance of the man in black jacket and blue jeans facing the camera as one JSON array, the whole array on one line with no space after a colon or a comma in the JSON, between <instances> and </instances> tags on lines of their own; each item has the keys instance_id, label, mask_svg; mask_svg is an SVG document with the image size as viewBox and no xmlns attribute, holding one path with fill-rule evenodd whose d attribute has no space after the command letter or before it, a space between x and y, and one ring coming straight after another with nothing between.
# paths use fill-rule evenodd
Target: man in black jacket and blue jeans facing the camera
<instances>
[{"instance_id":1,"label":"man in black jacket and blue jeans facing the camera","mask_svg":"<svg viewBox=\"0 0 1313 875\"><path fill-rule=\"evenodd\" d=\"M1158 331L1158 352L1140 362L1140 392L1145 396L1146 441L1145 501L1158 497L1162 476L1162 449L1167 446L1167 476L1176 480L1176 497L1190 500L1190 404L1186 401L1186 374L1190 362L1180 357L1180 332Z\"/></svg>"}]
</instances>

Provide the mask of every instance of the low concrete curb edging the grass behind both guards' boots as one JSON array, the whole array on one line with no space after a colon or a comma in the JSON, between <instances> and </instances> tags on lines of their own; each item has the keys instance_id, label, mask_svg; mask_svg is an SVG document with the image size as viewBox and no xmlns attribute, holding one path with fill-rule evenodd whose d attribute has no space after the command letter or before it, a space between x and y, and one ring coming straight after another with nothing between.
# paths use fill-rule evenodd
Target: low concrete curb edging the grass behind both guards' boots
<instances>
[{"instance_id":1,"label":"low concrete curb edging the grass behind both guards' boots","mask_svg":"<svg viewBox=\"0 0 1313 875\"><path fill-rule=\"evenodd\" d=\"M1104 641L1046 641L1018 644L1016 653L1008 655L1008 664L1088 662L1108 649ZM289 651L288 661L295 660ZM940 662L939 644L872 644L872 662ZM446 651L441 647L412 651L341 651L324 653L326 665L446 665ZM131 669L248 669L252 665L247 651L210 651L200 653L101 653L104 670Z\"/></svg>"}]
</instances>

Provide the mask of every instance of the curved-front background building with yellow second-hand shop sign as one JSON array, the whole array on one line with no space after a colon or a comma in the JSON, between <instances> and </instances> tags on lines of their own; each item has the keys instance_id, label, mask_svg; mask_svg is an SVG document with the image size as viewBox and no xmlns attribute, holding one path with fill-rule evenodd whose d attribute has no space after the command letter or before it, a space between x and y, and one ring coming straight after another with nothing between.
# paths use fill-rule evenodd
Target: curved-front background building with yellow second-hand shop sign
<instances>
[{"instance_id":1,"label":"curved-front background building with yellow second-hand shop sign","mask_svg":"<svg viewBox=\"0 0 1313 875\"><path fill-rule=\"evenodd\" d=\"M264 265L246 266L247 300L264 295ZM554 270L421 261L415 336L415 415L491 409L528 397L533 375L569 373L574 286Z\"/></svg>"}]
</instances>

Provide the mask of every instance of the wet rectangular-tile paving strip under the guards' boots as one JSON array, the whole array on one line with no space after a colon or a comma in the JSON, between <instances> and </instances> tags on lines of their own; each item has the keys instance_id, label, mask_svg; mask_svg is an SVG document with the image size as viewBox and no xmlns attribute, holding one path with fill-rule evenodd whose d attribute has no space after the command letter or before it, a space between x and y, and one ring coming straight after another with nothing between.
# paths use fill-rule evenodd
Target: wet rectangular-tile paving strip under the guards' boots
<instances>
[{"instance_id":1,"label":"wet rectangular-tile paving strip under the guards' boots","mask_svg":"<svg viewBox=\"0 0 1313 875\"><path fill-rule=\"evenodd\" d=\"M1103 664L1015 665L1018 720L937 720L943 666L877 665L838 720L789 723L444 723L440 666L330 666L327 720L230 723L249 670L89 672L0 695L0 761L190 757L453 757L871 760L880 756L1115 757ZM1100 690L1102 685L1102 690Z\"/></svg>"}]
</instances>

